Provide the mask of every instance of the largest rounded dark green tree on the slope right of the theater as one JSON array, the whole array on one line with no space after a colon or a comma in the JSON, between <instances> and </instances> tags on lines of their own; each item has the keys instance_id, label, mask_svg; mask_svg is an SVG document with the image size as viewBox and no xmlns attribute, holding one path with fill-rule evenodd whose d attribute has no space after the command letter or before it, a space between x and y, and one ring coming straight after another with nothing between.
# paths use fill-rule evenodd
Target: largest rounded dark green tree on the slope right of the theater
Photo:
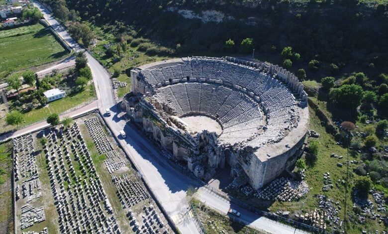
<instances>
[{"instance_id":1,"label":"largest rounded dark green tree on the slope right of the theater","mask_svg":"<svg viewBox=\"0 0 388 234\"><path fill-rule=\"evenodd\" d=\"M342 85L330 90L329 98L343 108L356 109L363 98L363 88L359 85Z\"/></svg>"}]
</instances>

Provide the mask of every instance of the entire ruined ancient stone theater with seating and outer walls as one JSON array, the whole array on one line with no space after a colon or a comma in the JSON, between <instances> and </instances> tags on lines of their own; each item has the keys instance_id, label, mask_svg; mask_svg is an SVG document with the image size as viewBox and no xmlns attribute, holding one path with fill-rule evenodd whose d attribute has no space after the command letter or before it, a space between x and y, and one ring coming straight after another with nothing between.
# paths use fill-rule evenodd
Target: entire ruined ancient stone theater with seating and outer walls
<instances>
[{"instance_id":1,"label":"entire ruined ancient stone theater with seating and outer walls","mask_svg":"<svg viewBox=\"0 0 388 234\"><path fill-rule=\"evenodd\" d=\"M131 120L195 176L229 168L258 189L291 168L308 128L303 85L276 65L191 57L131 71Z\"/></svg>"}]
</instances>

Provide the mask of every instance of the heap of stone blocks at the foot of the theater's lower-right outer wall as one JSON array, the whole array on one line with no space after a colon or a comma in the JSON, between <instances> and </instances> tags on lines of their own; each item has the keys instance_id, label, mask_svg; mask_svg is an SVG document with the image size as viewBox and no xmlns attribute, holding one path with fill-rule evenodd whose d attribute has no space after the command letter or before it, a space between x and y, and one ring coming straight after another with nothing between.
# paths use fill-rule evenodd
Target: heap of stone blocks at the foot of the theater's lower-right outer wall
<instances>
[{"instance_id":1,"label":"heap of stone blocks at the foot of the theater's lower-right outer wall","mask_svg":"<svg viewBox=\"0 0 388 234\"><path fill-rule=\"evenodd\" d=\"M291 202L300 199L308 192L308 185L305 181L294 181L285 177L273 180L264 189L257 192L257 197L264 200L279 200Z\"/></svg>"}]
</instances>

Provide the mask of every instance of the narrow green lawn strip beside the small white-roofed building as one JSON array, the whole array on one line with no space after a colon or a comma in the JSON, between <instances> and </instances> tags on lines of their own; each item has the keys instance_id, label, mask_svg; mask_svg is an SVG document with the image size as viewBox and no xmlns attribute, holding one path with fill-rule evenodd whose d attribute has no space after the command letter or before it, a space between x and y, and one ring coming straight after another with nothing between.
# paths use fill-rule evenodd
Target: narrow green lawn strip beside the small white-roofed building
<instances>
[{"instance_id":1,"label":"narrow green lawn strip beside the small white-roofed building","mask_svg":"<svg viewBox=\"0 0 388 234\"><path fill-rule=\"evenodd\" d=\"M47 118L53 113L62 113L72 108L81 105L84 102L90 101L96 97L95 86L89 85L85 89L75 95L68 95L67 97L51 102L46 107L33 109L24 114L23 125L28 125Z\"/></svg>"}]
</instances>

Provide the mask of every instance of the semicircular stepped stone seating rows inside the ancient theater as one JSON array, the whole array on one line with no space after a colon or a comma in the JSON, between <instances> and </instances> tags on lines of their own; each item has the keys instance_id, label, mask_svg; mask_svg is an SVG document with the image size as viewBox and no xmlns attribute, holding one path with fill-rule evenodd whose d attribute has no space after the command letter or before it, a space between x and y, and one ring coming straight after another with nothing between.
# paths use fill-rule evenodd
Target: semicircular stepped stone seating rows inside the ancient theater
<instances>
[{"instance_id":1,"label":"semicircular stepped stone seating rows inside the ancient theater","mask_svg":"<svg viewBox=\"0 0 388 234\"><path fill-rule=\"evenodd\" d=\"M139 76L153 87L154 98L168 105L174 115L217 119L223 128L219 139L225 143L245 141L258 147L278 142L296 118L295 98L287 86L252 67L221 59L191 59L148 67ZM259 98L249 97L249 92Z\"/></svg>"}]
</instances>

